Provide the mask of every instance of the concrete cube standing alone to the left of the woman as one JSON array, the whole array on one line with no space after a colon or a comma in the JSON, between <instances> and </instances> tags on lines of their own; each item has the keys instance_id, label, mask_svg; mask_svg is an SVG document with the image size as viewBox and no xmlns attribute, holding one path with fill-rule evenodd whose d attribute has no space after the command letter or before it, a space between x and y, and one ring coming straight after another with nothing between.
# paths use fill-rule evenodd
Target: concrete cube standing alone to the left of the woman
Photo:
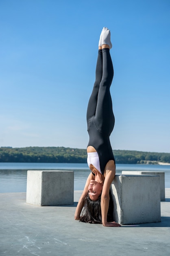
<instances>
[{"instance_id":1,"label":"concrete cube standing alone to the left of the woman","mask_svg":"<svg viewBox=\"0 0 170 256\"><path fill-rule=\"evenodd\" d=\"M27 171L26 203L38 206L74 203L74 171Z\"/></svg>"}]
</instances>

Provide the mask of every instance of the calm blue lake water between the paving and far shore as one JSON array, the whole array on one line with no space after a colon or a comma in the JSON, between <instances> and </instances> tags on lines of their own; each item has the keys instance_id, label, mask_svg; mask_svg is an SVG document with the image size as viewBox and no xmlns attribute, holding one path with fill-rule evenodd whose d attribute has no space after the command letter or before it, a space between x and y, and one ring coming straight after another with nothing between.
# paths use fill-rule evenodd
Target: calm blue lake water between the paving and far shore
<instances>
[{"instance_id":1,"label":"calm blue lake water between the paving and far shore","mask_svg":"<svg viewBox=\"0 0 170 256\"><path fill-rule=\"evenodd\" d=\"M74 171L74 190L83 190L89 175L87 164L62 163L0 163L0 193L26 192L28 170ZM170 165L116 164L116 173L122 171L163 171L165 187L170 188Z\"/></svg>"}]
</instances>

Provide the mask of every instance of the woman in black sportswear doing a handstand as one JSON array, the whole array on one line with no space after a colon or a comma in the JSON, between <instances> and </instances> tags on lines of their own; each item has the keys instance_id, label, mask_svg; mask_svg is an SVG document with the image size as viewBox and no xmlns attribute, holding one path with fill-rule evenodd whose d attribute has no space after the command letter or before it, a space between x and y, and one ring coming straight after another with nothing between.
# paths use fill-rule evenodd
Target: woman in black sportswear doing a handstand
<instances>
[{"instance_id":1,"label":"woman in black sportswear doing a handstand","mask_svg":"<svg viewBox=\"0 0 170 256\"><path fill-rule=\"evenodd\" d=\"M115 121L110 95L113 79L111 47L110 30L104 27L99 40L96 81L87 107L87 163L92 172L87 178L74 218L83 222L102 223L106 227L119 227L118 223L109 222L108 218L109 189L116 173L109 140ZM84 206L83 215L80 216Z\"/></svg>"}]
</instances>

